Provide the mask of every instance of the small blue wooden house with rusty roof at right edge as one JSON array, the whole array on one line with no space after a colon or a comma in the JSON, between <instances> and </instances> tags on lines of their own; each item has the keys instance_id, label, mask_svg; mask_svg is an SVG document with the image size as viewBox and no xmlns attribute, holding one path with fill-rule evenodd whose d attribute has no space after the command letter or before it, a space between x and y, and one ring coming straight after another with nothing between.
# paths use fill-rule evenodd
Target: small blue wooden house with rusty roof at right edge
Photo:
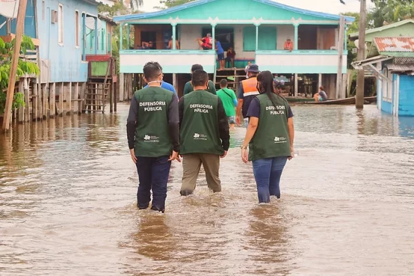
<instances>
[{"instance_id":1,"label":"small blue wooden house with rusty roof at right edge","mask_svg":"<svg viewBox=\"0 0 414 276\"><path fill-rule=\"evenodd\" d=\"M414 116L414 37L375 37L371 55L355 67L377 78L377 107L395 116Z\"/></svg>"}]
</instances>

